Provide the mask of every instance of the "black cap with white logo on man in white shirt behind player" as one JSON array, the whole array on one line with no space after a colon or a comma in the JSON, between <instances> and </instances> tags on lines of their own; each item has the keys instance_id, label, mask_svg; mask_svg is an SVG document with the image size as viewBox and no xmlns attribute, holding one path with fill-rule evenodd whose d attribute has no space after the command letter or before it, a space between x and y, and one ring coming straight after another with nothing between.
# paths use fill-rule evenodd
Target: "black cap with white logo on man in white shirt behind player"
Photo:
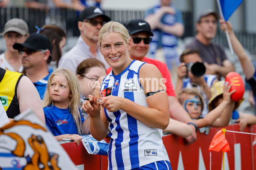
<instances>
[{"instance_id":1,"label":"black cap with white logo on man in white shirt behind player","mask_svg":"<svg viewBox=\"0 0 256 170\"><path fill-rule=\"evenodd\" d=\"M98 16L102 16L105 22L108 22L111 20L111 18L103 14L102 10L100 10L100 8L98 8L97 6L88 6L84 8L83 11L81 11L78 17L78 21L92 19Z\"/></svg>"}]
</instances>

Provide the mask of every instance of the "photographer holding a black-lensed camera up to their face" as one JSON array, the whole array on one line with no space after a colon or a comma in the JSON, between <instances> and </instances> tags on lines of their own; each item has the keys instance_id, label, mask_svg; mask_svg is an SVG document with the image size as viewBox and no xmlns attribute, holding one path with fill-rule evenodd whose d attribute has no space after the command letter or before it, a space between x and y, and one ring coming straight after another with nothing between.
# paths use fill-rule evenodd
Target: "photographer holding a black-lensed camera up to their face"
<instances>
[{"instance_id":1,"label":"photographer holding a black-lensed camera up to their face","mask_svg":"<svg viewBox=\"0 0 256 170\"><path fill-rule=\"evenodd\" d=\"M183 88L198 88L204 98L204 110L201 117L208 113L207 102L211 98L211 86L218 81L216 75L204 74L206 68L197 49L186 49L180 55L177 68L177 84L175 93L178 95Z\"/></svg>"}]
</instances>

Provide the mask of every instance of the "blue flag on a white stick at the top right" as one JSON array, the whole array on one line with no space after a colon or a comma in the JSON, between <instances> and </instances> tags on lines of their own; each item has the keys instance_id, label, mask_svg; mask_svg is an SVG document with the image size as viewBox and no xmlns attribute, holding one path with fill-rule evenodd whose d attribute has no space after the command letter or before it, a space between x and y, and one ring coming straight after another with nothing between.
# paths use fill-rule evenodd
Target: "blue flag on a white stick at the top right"
<instances>
[{"instance_id":1,"label":"blue flag on a white stick at the top right","mask_svg":"<svg viewBox=\"0 0 256 170\"><path fill-rule=\"evenodd\" d=\"M236 8L240 6L243 0L219 0L221 5L221 10L225 21L227 21L230 16L236 11Z\"/></svg>"}]
</instances>

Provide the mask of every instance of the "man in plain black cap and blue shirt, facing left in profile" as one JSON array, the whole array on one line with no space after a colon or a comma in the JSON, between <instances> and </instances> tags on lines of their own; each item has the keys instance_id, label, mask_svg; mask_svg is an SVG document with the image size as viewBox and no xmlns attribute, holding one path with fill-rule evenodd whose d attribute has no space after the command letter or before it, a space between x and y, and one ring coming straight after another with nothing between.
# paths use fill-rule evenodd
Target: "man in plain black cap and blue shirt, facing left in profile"
<instances>
[{"instance_id":1,"label":"man in plain black cap and blue shirt, facing left in profile","mask_svg":"<svg viewBox=\"0 0 256 170\"><path fill-rule=\"evenodd\" d=\"M43 99L47 87L49 75L48 70L51 61L51 43L48 37L42 34L31 34L24 43L15 43L13 48L18 50L22 56L22 65L27 77L33 82L35 88Z\"/></svg>"}]
</instances>

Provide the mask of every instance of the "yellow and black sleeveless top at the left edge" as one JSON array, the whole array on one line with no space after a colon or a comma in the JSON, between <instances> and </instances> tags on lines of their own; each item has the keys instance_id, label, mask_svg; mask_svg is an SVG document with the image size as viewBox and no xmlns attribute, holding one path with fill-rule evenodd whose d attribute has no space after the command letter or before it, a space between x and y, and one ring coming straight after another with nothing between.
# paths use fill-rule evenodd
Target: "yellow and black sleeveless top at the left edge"
<instances>
[{"instance_id":1,"label":"yellow and black sleeveless top at the left edge","mask_svg":"<svg viewBox=\"0 0 256 170\"><path fill-rule=\"evenodd\" d=\"M0 68L0 100L9 118L20 114L17 86L23 75Z\"/></svg>"}]
</instances>

